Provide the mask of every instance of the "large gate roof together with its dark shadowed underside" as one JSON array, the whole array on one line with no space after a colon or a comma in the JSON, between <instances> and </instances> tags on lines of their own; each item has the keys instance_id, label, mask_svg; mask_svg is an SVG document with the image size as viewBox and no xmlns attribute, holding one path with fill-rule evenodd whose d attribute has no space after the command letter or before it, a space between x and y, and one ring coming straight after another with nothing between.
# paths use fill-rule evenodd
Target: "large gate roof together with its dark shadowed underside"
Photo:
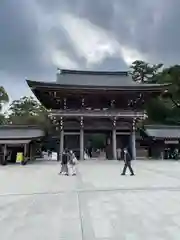
<instances>
[{"instance_id":1,"label":"large gate roof together with its dark shadowed underside","mask_svg":"<svg viewBox=\"0 0 180 240\"><path fill-rule=\"evenodd\" d=\"M143 98L149 98L161 94L167 90L170 84L145 84L136 83L128 75L128 72L105 72L105 71L79 71L79 70L60 70L57 74L55 82L41 82L27 80L27 84L31 88L37 99L47 109L61 108L61 100L67 97L79 98L82 96L96 98L106 96L111 99L116 95L118 98L119 92L127 97L127 94L141 94ZM132 96L131 96L132 97Z\"/></svg>"}]
</instances>

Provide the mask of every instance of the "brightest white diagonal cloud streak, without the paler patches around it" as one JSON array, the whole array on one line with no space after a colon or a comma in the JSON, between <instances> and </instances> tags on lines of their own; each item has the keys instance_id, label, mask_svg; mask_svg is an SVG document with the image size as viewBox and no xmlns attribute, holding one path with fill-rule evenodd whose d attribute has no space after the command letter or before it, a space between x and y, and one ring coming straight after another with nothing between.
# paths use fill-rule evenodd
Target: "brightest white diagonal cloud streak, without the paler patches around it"
<instances>
[{"instance_id":1,"label":"brightest white diagonal cloud streak, without the paler patches around it","mask_svg":"<svg viewBox=\"0 0 180 240\"><path fill-rule=\"evenodd\" d=\"M86 59L87 65L120 55L120 45L111 33L71 14L62 15L60 21L77 54Z\"/></svg>"}]
</instances>

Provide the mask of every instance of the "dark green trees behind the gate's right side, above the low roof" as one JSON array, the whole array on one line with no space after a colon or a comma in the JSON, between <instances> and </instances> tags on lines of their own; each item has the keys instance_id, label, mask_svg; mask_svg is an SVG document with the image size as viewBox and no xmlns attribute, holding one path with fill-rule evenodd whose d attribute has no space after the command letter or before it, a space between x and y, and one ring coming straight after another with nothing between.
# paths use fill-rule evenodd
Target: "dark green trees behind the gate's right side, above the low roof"
<instances>
[{"instance_id":1,"label":"dark green trees behind the gate's right side, above the low roof","mask_svg":"<svg viewBox=\"0 0 180 240\"><path fill-rule=\"evenodd\" d=\"M150 65L135 61L131 65L132 78L140 83L170 83L169 92L174 102L180 103L180 65L163 69L163 64ZM156 97L146 104L148 122L179 124L180 108L170 98Z\"/></svg>"}]
</instances>

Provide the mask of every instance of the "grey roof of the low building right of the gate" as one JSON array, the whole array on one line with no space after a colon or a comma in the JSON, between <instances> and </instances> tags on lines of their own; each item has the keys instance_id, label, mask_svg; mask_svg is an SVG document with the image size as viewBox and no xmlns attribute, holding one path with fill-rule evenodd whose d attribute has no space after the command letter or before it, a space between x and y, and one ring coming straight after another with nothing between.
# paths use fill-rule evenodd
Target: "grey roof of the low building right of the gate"
<instances>
[{"instance_id":1,"label":"grey roof of the low building right of the gate","mask_svg":"<svg viewBox=\"0 0 180 240\"><path fill-rule=\"evenodd\" d=\"M145 132L149 137L157 139L180 139L180 126L147 125Z\"/></svg>"}]
</instances>

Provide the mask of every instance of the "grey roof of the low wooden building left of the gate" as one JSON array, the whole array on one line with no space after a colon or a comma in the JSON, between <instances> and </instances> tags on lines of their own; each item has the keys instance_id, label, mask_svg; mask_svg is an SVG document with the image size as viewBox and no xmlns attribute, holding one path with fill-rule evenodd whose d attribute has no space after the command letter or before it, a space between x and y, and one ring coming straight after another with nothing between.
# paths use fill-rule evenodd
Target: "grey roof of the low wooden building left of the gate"
<instances>
[{"instance_id":1,"label":"grey roof of the low wooden building left of the gate","mask_svg":"<svg viewBox=\"0 0 180 240\"><path fill-rule=\"evenodd\" d=\"M44 136L44 131L35 126L1 125L0 140L32 140Z\"/></svg>"}]
</instances>

